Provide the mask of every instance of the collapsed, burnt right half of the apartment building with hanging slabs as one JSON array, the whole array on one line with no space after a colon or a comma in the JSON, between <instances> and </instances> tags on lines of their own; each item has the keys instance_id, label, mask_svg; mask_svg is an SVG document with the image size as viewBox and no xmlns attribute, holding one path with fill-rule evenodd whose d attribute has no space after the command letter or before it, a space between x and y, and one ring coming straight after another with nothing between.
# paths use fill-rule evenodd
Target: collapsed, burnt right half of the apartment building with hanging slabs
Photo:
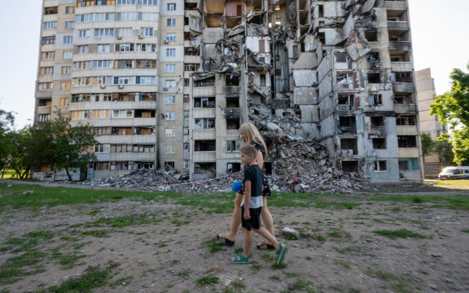
<instances>
[{"instance_id":1,"label":"collapsed, burnt right half of the apartment building with hanging slabs","mask_svg":"<svg viewBox=\"0 0 469 293\"><path fill-rule=\"evenodd\" d=\"M343 172L371 183L422 180L405 0L203 0L197 12L192 179L240 169L246 96L251 120L296 117L289 130L326 143Z\"/></svg>"}]
</instances>

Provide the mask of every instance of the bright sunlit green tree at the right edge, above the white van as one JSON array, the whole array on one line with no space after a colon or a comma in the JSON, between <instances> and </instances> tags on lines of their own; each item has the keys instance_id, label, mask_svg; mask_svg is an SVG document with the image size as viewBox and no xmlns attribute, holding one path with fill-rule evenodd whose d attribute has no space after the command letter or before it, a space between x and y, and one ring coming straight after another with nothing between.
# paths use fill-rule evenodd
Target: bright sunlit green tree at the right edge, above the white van
<instances>
[{"instance_id":1,"label":"bright sunlit green tree at the right edge, above the white van","mask_svg":"<svg viewBox=\"0 0 469 293\"><path fill-rule=\"evenodd\" d=\"M469 64L467 65L469 70ZM441 124L448 125L454 162L469 163L469 74L453 69L451 90L437 96L430 105L430 115L437 115ZM443 138L445 139L445 138Z\"/></svg>"}]
</instances>

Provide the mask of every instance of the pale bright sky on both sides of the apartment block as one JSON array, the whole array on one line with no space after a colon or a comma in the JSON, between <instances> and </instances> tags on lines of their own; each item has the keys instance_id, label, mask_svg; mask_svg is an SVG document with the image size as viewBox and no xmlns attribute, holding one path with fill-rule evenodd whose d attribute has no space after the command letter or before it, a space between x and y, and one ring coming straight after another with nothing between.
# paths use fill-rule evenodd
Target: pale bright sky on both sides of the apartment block
<instances>
[{"instance_id":1,"label":"pale bright sky on both sides of the apartment block","mask_svg":"<svg viewBox=\"0 0 469 293\"><path fill-rule=\"evenodd\" d=\"M3 2L0 109L17 113L21 128L34 115L42 1ZM443 94L453 68L467 72L469 0L409 0L409 6L415 70L430 68L436 93Z\"/></svg>"}]
</instances>

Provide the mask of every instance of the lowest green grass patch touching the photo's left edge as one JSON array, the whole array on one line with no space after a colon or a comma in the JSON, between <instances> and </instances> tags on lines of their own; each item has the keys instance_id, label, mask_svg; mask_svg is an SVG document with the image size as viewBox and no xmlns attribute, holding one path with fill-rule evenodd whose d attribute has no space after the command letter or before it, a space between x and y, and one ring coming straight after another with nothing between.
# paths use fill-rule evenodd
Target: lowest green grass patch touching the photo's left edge
<instances>
[{"instance_id":1,"label":"lowest green grass patch touching the photo's left edge","mask_svg":"<svg viewBox=\"0 0 469 293\"><path fill-rule=\"evenodd\" d=\"M24 276L44 272L43 264L40 262L45 256L47 256L46 252L32 250L8 258L0 266L0 286L15 283ZM31 266L34 267L26 268Z\"/></svg>"}]
</instances>

